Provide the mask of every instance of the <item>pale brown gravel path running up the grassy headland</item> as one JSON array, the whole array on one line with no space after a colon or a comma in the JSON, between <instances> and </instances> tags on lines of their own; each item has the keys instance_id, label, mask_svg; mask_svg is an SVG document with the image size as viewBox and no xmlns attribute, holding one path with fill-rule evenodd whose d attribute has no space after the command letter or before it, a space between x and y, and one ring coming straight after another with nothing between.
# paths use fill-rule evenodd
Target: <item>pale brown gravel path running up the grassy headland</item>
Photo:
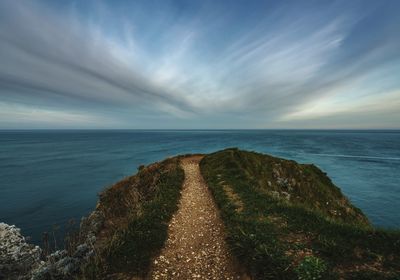
<instances>
[{"instance_id":1,"label":"pale brown gravel path running up the grassy headland","mask_svg":"<svg viewBox=\"0 0 400 280\"><path fill-rule=\"evenodd\" d=\"M242 279L225 243L222 221L200 174L201 157L182 160L185 181L168 240L151 279Z\"/></svg>"}]
</instances>

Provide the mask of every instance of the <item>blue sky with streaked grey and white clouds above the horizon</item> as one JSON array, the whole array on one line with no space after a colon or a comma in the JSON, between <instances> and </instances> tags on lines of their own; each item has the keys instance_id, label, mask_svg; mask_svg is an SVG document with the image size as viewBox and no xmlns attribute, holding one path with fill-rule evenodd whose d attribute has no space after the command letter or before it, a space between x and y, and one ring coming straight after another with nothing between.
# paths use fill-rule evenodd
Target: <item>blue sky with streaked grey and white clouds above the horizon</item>
<instances>
[{"instance_id":1,"label":"blue sky with streaked grey and white clouds above the horizon","mask_svg":"<svg viewBox=\"0 0 400 280\"><path fill-rule=\"evenodd\" d=\"M400 1L0 1L0 129L399 129Z\"/></svg>"}]
</instances>

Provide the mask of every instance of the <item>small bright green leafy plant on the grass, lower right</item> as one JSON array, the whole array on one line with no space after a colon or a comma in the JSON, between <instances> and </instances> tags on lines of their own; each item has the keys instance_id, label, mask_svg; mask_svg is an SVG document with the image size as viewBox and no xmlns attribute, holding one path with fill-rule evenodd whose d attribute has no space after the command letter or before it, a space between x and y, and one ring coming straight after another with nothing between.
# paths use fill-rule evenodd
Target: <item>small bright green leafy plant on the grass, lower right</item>
<instances>
[{"instance_id":1,"label":"small bright green leafy plant on the grass, lower right","mask_svg":"<svg viewBox=\"0 0 400 280\"><path fill-rule=\"evenodd\" d=\"M326 270L327 266L325 262L313 256L305 257L295 269L300 280L321 279Z\"/></svg>"}]
</instances>

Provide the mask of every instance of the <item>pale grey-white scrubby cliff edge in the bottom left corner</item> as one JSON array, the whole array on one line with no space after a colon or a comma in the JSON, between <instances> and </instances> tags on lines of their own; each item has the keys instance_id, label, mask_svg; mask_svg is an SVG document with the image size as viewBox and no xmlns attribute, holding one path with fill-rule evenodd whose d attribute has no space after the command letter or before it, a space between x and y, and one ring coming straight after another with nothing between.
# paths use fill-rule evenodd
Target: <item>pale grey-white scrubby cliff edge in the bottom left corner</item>
<instances>
[{"instance_id":1,"label":"pale grey-white scrubby cliff edge in the bottom left corner","mask_svg":"<svg viewBox=\"0 0 400 280\"><path fill-rule=\"evenodd\" d=\"M103 219L98 211L82 218L80 236L72 252L58 250L41 259L42 250L26 242L20 229L0 223L0 279L67 280L78 274L94 252Z\"/></svg>"}]
</instances>

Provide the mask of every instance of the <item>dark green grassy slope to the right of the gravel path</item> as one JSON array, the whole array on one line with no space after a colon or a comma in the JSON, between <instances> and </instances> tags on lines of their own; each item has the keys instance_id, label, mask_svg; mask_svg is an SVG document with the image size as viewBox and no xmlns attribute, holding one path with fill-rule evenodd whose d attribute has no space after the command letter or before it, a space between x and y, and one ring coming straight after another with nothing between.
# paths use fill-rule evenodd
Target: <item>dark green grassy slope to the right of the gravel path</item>
<instances>
[{"instance_id":1,"label":"dark green grassy slope to the right of the gravel path","mask_svg":"<svg viewBox=\"0 0 400 280\"><path fill-rule=\"evenodd\" d=\"M313 165L227 149L202 174L255 279L400 279L400 232L374 229Z\"/></svg>"}]
</instances>

